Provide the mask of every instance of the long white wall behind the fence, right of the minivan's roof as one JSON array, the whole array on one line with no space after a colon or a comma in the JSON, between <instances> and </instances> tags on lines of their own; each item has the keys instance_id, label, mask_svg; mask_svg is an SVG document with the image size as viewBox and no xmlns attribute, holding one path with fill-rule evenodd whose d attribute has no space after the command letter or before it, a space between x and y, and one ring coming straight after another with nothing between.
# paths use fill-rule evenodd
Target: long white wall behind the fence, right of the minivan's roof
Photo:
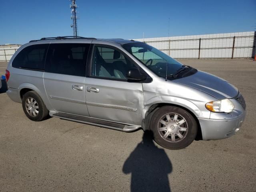
<instances>
[{"instance_id":1,"label":"long white wall behind the fence, right of the minivan's roof","mask_svg":"<svg viewBox=\"0 0 256 192\"><path fill-rule=\"evenodd\" d=\"M234 58L254 56L253 46L255 46L254 34L256 32L235 32L220 34L205 34L193 36L174 36L159 38L135 39L144 41L165 52L173 58L198 58L199 38L201 38L200 58L231 58L234 44ZM255 38L255 40L254 40ZM153 42L158 41L158 42ZM162 41L162 42L159 42Z\"/></svg>"}]
</instances>

